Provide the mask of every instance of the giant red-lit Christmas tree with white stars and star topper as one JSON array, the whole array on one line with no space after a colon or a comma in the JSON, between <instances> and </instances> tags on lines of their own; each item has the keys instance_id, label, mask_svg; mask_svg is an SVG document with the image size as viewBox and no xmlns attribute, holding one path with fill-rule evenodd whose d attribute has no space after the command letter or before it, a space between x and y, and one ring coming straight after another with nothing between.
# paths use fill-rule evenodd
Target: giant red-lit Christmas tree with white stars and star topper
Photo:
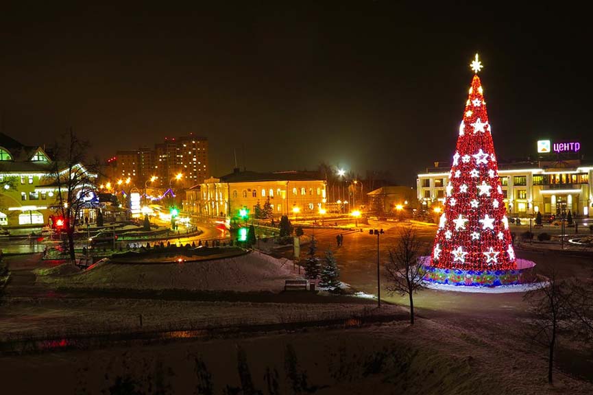
<instances>
[{"instance_id":1,"label":"giant red-lit Christmas tree with white stars and star topper","mask_svg":"<svg viewBox=\"0 0 593 395\"><path fill-rule=\"evenodd\" d=\"M459 125L431 266L516 269L477 55L471 66L475 75Z\"/></svg>"}]
</instances>

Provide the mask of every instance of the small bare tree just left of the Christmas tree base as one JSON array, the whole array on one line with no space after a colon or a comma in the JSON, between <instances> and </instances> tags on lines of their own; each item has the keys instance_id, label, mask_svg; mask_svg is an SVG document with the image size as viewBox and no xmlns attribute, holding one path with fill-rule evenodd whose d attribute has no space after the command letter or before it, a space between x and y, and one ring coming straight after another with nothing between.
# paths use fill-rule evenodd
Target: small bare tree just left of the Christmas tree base
<instances>
[{"instance_id":1,"label":"small bare tree just left of the Christmas tree base","mask_svg":"<svg viewBox=\"0 0 593 395\"><path fill-rule=\"evenodd\" d=\"M407 295L410 299L410 324L414 324L415 292L424 288L423 255L428 254L428 245L420 241L413 226L400 228L394 248L389 249L389 261L385 265L391 294Z\"/></svg>"}]
</instances>

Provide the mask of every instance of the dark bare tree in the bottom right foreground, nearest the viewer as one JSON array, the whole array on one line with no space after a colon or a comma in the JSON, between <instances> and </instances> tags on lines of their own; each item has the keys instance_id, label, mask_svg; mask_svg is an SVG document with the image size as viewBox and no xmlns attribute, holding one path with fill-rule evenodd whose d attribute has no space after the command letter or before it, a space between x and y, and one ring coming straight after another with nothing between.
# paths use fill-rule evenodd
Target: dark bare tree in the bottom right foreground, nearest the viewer
<instances>
[{"instance_id":1,"label":"dark bare tree in the bottom right foreground, nearest the viewer","mask_svg":"<svg viewBox=\"0 0 593 395\"><path fill-rule=\"evenodd\" d=\"M553 271L548 282L524 295L535 314L532 339L548 348L548 383L553 383L554 351L558 339L559 324L570 319L566 280L560 280Z\"/></svg>"}]
</instances>

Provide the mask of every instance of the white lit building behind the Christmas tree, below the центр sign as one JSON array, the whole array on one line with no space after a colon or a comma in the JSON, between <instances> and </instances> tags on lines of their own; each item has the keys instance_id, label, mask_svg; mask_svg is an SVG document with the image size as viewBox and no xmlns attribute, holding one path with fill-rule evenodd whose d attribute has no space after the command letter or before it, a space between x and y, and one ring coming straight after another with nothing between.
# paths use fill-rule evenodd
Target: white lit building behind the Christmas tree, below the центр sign
<instances>
[{"instance_id":1,"label":"white lit building behind the Christmas tree, below the \u0446\u0435\u043d\u0442\u0440 sign","mask_svg":"<svg viewBox=\"0 0 593 395\"><path fill-rule=\"evenodd\" d=\"M418 174L417 198L421 206L442 205L450 167L435 163ZM509 215L557 215L563 211L589 217L593 210L593 165L579 159L498 163L505 206Z\"/></svg>"}]
</instances>

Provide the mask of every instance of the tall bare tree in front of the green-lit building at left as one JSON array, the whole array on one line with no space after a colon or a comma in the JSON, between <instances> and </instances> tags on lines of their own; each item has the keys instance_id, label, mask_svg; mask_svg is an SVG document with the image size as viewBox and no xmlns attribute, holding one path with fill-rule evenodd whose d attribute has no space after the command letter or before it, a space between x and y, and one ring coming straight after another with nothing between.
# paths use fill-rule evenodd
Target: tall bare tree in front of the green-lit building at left
<instances>
[{"instance_id":1,"label":"tall bare tree in front of the green-lit building at left","mask_svg":"<svg viewBox=\"0 0 593 395\"><path fill-rule=\"evenodd\" d=\"M82 209L90 206L95 191L95 174L92 167L83 165L89 143L82 141L70 130L52 148L54 161L50 182L58 191L54 209L64 219L68 237L70 260L75 261L74 233L76 219Z\"/></svg>"}]
</instances>

